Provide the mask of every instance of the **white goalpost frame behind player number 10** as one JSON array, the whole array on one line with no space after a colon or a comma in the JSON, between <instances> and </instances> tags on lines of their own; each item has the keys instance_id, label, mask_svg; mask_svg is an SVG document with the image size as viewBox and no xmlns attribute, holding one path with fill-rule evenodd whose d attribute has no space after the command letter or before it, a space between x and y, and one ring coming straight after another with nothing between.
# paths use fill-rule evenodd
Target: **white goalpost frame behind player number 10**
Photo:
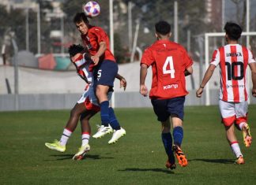
<instances>
[{"instance_id":1,"label":"white goalpost frame behind player number 10","mask_svg":"<svg viewBox=\"0 0 256 185\"><path fill-rule=\"evenodd\" d=\"M212 32L212 33L205 33L205 71L209 67L209 38L210 37L224 37L226 33L225 32ZM250 31L250 32L243 32L242 35L247 36L247 47L249 47L249 36L250 35L256 35L256 31ZM247 85L249 83L248 78L249 72L247 72ZM201 82L200 82L201 83ZM209 83L205 86L205 105L210 105L210 98L209 98ZM248 99L248 102L250 102L250 98Z\"/></svg>"}]
</instances>

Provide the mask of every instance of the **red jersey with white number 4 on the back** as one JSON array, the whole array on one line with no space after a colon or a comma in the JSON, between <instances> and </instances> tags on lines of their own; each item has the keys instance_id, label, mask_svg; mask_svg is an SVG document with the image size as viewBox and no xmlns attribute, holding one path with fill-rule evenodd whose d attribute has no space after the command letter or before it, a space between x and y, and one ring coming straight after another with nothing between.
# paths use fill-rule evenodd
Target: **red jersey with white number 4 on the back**
<instances>
[{"instance_id":1,"label":"red jersey with white number 4 on the back","mask_svg":"<svg viewBox=\"0 0 256 185\"><path fill-rule=\"evenodd\" d=\"M193 61L183 46L169 40L158 40L142 55L141 64L152 65L152 87L149 98L185 96L185 70Z\"/></svg>"}]
</instances>

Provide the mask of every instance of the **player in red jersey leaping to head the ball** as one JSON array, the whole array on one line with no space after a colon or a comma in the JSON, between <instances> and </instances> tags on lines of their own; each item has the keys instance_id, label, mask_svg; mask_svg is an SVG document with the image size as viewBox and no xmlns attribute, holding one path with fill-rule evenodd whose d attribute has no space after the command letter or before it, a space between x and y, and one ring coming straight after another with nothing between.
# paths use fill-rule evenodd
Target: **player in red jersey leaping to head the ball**
<instances>
[{"instance_id":1,"label":"player in red jersey leaping to head the ball","mask_svg":"<svg viewBox=\"0 0 256 185\"><path fill-rule=\"evenodd\" d=\"M104 29L89 24L85 13L77 13L73 22L81 33L81 39L92 55L91 59L94 63L92 66L95 77L94 86L100 104L101 126L92 137L97 139L112 131L107 93L113 91L115 76L119 68L111 53L109 39ZM115 129L114 134L117 139L126 134L126 131L120 127L113 129Z\"/></svg>"}]
</instances>

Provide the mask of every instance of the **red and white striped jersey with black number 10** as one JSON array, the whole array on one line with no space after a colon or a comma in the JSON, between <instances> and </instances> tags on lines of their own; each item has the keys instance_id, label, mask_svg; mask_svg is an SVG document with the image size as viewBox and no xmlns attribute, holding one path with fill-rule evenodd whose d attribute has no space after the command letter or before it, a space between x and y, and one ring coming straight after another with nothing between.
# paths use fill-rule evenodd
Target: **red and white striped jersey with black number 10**
<instances>
[{"instance_id":1,"label":"red and white striped jersey with black number 10","mask_svg":"<svg viewBox=\"0 0 256 185\"><path fill-rule=\"evenodd\" d=\"M211 64L220 65L221 100L247 101L247 65L252 62L255 62L253 54L239 44L228 44L213 52Z\"/></svg>"}]
</instances>

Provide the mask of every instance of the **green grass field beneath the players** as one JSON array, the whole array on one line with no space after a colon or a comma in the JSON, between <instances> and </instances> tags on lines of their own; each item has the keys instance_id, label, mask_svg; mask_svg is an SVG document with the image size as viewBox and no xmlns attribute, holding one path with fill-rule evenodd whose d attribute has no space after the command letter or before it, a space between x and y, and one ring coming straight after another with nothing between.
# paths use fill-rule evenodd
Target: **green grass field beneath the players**
<instances>
[{"instance_id":1,"label":"green grass field beneath the players","mask_svg":"<svg viewBox=\"0 0 256 185\"><path fill-rule=\"evenodd\" d=\"M152 109L115 109L126 136L108 145L111 135L90 139L85 160L72 161L81 146L77 126L65 153L52 151L44 142L59 139L69 111L0 113L0 184L255 184L256 145L243 145L245 165L235 157L225 139L217 106L186 107L183 151L186 168L165 168L167 160L160 124ZM251 134L256 135L256 105L249 107ZM100 114L91 120L92 133ZM256 136L255 136L256 137Z\"/></svg>"}]
</instances>

